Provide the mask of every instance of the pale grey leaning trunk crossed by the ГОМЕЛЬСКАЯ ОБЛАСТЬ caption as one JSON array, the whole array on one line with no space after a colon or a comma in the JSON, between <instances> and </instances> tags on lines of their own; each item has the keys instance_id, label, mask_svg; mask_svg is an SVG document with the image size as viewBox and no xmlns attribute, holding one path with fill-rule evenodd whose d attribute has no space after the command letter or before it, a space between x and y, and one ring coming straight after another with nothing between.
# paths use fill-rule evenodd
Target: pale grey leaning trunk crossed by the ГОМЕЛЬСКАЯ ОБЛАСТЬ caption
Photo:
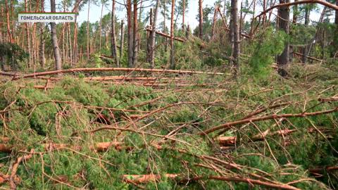
<instances>
[{"instance_id":1,"label":"pale grey leaning trunk crossed by the \u0413\u041e\u041c\u0415\u041b\u042c\u0421\u041a\u0410\u042f \u041e\u0411\u041b\u0410\u0421\u0422\u042c caption","mask_svg":"<svg viewBox=\"0 0 338 190\"><path fill-rule=\"evenodd\" d=\"M51 0L51 12L56 12L55 0ZM61 57L60 49L58 48L58 37L56 34L56 23L51 23L51 44L53 44L54 59L55 59L55 69L61 70ZM58 74L58 76L60 76Z\"/></svg>"}]
</instances>

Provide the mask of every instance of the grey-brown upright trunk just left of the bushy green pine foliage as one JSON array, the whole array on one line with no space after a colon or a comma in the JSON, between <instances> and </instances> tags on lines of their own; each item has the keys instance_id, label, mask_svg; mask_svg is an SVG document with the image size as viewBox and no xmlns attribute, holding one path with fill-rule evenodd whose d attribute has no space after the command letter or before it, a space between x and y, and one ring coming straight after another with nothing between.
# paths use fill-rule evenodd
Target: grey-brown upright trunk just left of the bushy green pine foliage
<instances>
[{"instance_id":1,"label":"grey-brown upright trunk just left of the bushy green pine foliage","mask_svg":"<svg viewBox=\"0 0 338 190\"><path fill-rule=\"evenodd\" d=\"M233 41L232 41L232 64L234 65L234 75L239 75L239 25L237 22L238 17L238 1L231 0L231 20L232 20L232 31L233 31Z\"/></svg>"}]
</instances>

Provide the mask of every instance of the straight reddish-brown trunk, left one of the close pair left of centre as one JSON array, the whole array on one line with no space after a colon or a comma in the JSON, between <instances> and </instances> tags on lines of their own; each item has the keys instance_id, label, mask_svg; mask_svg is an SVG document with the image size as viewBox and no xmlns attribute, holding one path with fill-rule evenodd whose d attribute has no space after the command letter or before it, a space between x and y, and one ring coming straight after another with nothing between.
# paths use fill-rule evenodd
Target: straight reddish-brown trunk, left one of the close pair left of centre
<instances>
[{"instance_id":1,"label":"straight reddish-brown trunk, left one of the close pair left of centre","mask_svg":"<svg viewBox=\"0 0 338 190\"><path fill-rule=\"evenodd\" d=\"M127 40L128 40L128 66L134 67L132 58L134 51L132 49L132 0L127 0Z\"/></svg>"}]
</instances>

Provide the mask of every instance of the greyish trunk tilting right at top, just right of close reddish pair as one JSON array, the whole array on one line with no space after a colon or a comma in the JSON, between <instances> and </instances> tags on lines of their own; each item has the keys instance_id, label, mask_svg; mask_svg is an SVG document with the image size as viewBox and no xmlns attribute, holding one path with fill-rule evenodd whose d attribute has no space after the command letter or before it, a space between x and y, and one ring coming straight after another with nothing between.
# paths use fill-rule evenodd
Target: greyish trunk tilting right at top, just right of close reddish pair
<instances>
[{"instance_id":1,"label":"greyish trunk tilting right at top, just right of close reddish pair","mask_svg":"<svg viewBox=\"0 0 338 190\"><path fill-rule=\"evenodd\" d=\"M151 26L151 33L149 37L149 64L150 68L155 67L155 35L156 35L156 22L157 22L157 14L158 14L158 6L160 6L160 0L156 0L156 7L154 12L154 22Z\"/></svg>"}]
</instances>

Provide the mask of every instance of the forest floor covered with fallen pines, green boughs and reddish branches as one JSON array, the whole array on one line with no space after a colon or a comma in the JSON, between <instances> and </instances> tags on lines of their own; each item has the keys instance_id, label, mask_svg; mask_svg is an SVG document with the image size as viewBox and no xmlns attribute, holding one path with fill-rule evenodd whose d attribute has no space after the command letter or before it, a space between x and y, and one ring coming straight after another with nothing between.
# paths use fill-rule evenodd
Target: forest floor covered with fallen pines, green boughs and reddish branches
<instances>
[{"instance_id":1,"label":"forest floor covered with fallen pines, green boughs and reddish branches","mask_svg":"<svg viewBox=\"0 0 338 190\"><path fill-rule=\"evenodd\" d=\"M334 189L338 68L3 76L0 189Z\"/></svg>"}]
</instances>

